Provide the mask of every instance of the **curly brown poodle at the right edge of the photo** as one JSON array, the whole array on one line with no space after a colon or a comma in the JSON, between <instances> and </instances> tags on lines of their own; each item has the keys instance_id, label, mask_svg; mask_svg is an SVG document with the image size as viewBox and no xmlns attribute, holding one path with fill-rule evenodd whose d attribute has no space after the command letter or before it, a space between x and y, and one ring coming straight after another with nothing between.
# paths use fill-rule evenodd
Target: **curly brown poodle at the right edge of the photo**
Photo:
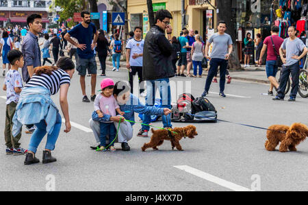
<instances>
[{"instance_id":1,"label":"curly brown poodle at the right edge of the photo","mask_svg":"<svg viewBox=\"0 0 308 205\"><path fill-rule=\"evenodd\" d=\"M279 152L296 151L296 145L304 141L308 136L308 128L302 123L293 123L290 127L286 125L272 125L268 128L266 137L268 140L265 147L268 151L274 151L281 142Z\"/></svg>"}]
</instances>

